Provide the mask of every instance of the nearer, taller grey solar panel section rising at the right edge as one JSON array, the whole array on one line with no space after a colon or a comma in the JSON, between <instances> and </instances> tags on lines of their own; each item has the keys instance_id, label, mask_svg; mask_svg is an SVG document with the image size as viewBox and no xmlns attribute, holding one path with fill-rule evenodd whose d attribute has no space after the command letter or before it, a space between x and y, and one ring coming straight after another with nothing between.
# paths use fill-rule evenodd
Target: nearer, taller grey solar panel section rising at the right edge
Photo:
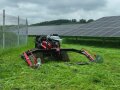
<instances>
[{"instance_id":1,"label":"nearer, taller grey solar panel section rising at the right edge","mask_svg":"<svg viewBox=\"0 0 120 90\"><path fill-rule=\"evenodd\" d=\"M101 18L82 26L74 34L91 37L120 37L117 32L120 33L120 16Z\"/></svg>"}]
</instances>

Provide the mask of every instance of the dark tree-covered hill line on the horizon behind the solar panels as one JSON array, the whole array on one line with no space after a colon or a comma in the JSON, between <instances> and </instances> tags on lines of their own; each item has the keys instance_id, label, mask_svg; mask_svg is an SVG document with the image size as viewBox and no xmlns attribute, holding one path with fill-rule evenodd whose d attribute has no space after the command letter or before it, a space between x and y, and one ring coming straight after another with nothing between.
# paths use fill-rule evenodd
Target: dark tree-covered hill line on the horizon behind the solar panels
<instances>
[{"instance_id":1,"label":"dark tree-covered hill line on the horizon behind the solar panels","mask_svg":"<svg viewBox=\"0 0 120 90\"><path fill-rule=\"evenodd\" d=\"M76 19L68 20L68 19L58 19L58 20L52 20L52 21L44 21L40 23L32 24L31 26L44 26L44 25L62 25L62 24L86 24L93 22L93 19L80 19L77 21Z\"/></svg>"}]
</instances>

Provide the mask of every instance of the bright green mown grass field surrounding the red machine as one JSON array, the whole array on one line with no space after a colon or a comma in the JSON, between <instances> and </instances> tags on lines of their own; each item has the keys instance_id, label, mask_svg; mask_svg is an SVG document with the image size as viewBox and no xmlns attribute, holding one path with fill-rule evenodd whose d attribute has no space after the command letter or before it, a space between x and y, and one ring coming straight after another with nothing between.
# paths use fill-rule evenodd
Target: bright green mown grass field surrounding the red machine
<instances>
[{"instance_id":1,"label":"bright green mown grass field surrounding the red machine","mask_svg":"<svg viewBox=\"0 0 120 90\"><path fill-rule=\"evenodd\" d=\"M64 48L85 48L100 54L104 63L81 66L50 61L32 69L20 54L33 47L30 38L27 46L0 51L0 90L120 90L120 49L63 43ZM73 63L87 61L75 53L69 57Z\"/></svg>"}]
</instances>

